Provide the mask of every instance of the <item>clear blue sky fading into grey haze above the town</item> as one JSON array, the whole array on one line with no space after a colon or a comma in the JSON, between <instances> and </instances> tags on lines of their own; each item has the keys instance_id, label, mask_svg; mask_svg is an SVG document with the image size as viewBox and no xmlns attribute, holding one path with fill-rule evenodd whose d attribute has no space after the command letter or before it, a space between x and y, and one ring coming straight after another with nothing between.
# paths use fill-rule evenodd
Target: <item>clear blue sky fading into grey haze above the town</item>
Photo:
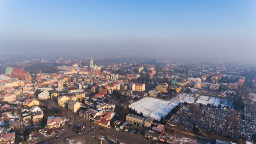
<instances>
[{"instance_id":1,"label":"clear blue sky fading into grey haze above the town","mask_svg":"<svg viewBox=\"0 0 256 144\"><path fill-rule=\"evenodd\" d=\"M3 51L256 52L255 0L2 0L0 19Z\"/></svg>"}]
</instances>

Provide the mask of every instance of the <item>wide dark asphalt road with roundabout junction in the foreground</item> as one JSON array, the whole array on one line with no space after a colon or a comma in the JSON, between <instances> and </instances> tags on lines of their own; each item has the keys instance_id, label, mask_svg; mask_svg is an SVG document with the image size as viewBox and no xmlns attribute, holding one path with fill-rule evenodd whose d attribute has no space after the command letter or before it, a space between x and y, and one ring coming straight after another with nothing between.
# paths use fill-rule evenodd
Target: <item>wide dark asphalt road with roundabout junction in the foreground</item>
<instances>
[{"instance_id":1,"label":"wide dark asphalt road with roundabout junction in the foreground","mask_svg":"<svg viewBox=\"0 0 256 144\"><path fill-rule=\"evenodd\" d=\"M60 106L56 105L54 102L49 102L48 106L52 106L54 108L63 109L65 112L65 116L63 117L69 117L72 119L72 126L75 125L82 125L85 126L85 130L81 132L81 134L76 134L74 132L73 127L68 128L68 125L63 126L65 130L63 130L61 133L59 133L56 128L54 129L57 134L60 136L61 140L57 140L54 136L45 137L44 135L40 134L38 131L35 131L34 134L39 136L39 141L36 141L38 144L64 144L68 143L69 139L80 139L85 143L86 137L92 137L92 136L105 136L107 138L111 138L111 140L119 140L121 143L124 144L150 144L152 141L147 140L144 138L144 131L145 128L137 127L139 130L141 130L142 134L126 134L125 132L122 132L122 130L114 130L112 128L105 128L102 126L99 126L98 124L95 124L93 122L90 122L89 120L86 120L85 118L82 118L78 116L77 114L74 114L70 111L68 111L66 108L61 108ZM77 119L75 122L74 119ZM86 125L85 125L86 124ZM94 128L90 128L90 126L94 126ZM100 130L101 128L104 128L104 130ZM88 134L88 131L92 131L93 134ZM28 144L32 144L33 142L28 142ZM99 142L100 143L100 142Z\"/></svg>"}]
</instances>

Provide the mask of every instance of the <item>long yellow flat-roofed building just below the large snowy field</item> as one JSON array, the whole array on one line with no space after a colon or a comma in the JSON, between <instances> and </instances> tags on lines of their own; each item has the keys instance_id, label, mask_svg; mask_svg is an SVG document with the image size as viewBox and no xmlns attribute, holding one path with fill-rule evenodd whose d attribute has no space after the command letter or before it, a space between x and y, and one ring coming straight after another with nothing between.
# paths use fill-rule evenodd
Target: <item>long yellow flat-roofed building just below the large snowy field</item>
<instances>
[{"instance_id":1,"label":"long yellow flat-roofed building just below the large snowy field","mask_svg":"<svg viewBox=\"0 0 256 144\"><path fill-rule=\"evenodd\" d=\"M142 126L142 127L145 127L145 128L149 128L151 126L152 122L153 122L152 118L147 118L147 117L143 118L143 117L140 117L140 116L136 116L134 114L127 114L126 120L129 120L134 125Z\"/></svg>"}]
</instances>

